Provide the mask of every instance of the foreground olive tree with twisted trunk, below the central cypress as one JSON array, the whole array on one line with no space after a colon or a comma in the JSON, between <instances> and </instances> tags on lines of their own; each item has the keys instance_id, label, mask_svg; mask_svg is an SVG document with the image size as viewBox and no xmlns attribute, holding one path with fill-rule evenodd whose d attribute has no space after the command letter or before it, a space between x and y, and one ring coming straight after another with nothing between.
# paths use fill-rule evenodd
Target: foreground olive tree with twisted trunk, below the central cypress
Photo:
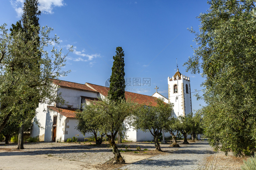
<instances>
[{"instance_id":1,"label":"foreground olive tree with twisted trunk, below the central cypress","mask_svg":"<svg viewBox=\"0 0 256 170\"><path fill-rule=\"evenodd\" d=\"M102 100L85 105L84 110L79 114L86 116L92 122L84 121L84 119L80 121L81 119L79 119L79 126L84 126L88 128L87 130L97 129L100 133L105 133L114 154L112 163L124 163L125 161L115 144L115 137L124 121L128 121L128 116L132 115L135 110L135 103L130 100L125 101L119 98L118 101L115 101L111 100L110 95L108 95Z\"/></svg>"}]
</instances>

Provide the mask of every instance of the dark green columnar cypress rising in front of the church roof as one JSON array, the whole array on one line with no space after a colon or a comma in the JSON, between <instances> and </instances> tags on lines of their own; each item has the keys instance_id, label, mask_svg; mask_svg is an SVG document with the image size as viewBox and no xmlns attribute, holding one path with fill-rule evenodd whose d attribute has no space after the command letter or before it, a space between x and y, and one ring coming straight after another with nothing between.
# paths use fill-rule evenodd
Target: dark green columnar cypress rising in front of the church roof
<instances>
[{"instance_id":1,"label":"dark green columnar cypress rising in front of the church roof","mask_svg":"<svg viewBox=\"0 0 256 170\"><path fill-rule=\"evenodd\" d=\"M116 47L116 55L113 56L113 60L108 95L110 95L110 100L125 100L124 51L122 47Z\"/></svg>"}]
</instances>

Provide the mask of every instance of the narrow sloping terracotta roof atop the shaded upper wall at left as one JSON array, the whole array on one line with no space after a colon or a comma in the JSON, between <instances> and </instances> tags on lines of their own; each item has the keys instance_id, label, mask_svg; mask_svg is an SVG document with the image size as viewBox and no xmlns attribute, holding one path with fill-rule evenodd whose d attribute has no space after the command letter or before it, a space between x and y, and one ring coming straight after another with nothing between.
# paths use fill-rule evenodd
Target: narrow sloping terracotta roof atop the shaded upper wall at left
<instances>
[{"instance_id":1,"label":"narrow sloping terracotta roof atop the shaded upper wall at left","mask_svg":"<svg viewBox=\"0 0 256 170\"><path fill-rule=\"evenodd\" d=\"M91 89L90 87L86 86L85 84L73 83L70 81L63 81L63 80L57 80L57 79L52 79L52 81L54 84L59 85L62 88L96 92L95 90Z\"/></svg>"}]
</instances>

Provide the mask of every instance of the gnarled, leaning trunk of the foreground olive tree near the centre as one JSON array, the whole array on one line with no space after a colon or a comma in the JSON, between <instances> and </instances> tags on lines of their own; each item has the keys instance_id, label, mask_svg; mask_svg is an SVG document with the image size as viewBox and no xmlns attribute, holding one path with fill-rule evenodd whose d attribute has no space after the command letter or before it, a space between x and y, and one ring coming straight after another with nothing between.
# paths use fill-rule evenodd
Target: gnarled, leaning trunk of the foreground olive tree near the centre
<instances>
[{"instance_id":1,"label":"gnarled, leaning trunk of the foreground olive tree near the centre","mask_svg":"<svg viewBox=\"0 0 256 170\"><path fill-rule=\"evenodd\" d=\"M112 163L115 164L115 163L125 163L123 157L121 156L116 144L115 144L115 136L113 134L111 135L108 135L106 134L107 136L107 140L110 144L110 146L112 147L112 150L113 150L113 154L115 155L114 158L112 159Z\"/></svg>"}]
</instances>

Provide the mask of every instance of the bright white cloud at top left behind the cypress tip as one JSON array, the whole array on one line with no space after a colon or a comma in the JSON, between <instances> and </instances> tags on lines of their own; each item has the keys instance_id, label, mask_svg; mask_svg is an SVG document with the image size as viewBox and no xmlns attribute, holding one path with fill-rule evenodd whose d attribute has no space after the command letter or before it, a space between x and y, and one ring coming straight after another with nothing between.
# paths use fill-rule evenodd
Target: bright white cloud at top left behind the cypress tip
<instances>
[{"instance_id":1,"label":"bright white cloud at top left behind the cypress tip","mask_svg":"<svg viewBox=\"0 0 256 170\"><path fill-rule=\"evenodd\" d=\"M11 5L17 13L17 17L21 17L23 13L24 0L10 0ZM62 7L64 0L38 0L38 10L44 14L53 14L53 7Z\"/></svg>"}]
</instances>

